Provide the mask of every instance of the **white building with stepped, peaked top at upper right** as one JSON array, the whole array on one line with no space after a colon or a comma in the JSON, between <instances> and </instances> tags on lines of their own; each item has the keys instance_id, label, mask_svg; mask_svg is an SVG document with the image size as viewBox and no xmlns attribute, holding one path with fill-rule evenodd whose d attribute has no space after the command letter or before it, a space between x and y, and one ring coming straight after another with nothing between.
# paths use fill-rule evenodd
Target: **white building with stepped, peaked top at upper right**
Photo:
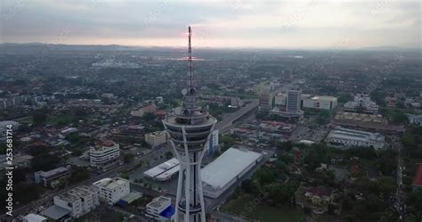
<instances>
[{"instance_id":1,"label":"white building with stepped, peaked top at upper right","mask_svg":"<svg viewBox=\"0 0 422 222\"><path fill-rule=\"evenodd\" d=\"M377 113L377 103L370 100L369 95L358 94L354 95L353 101L345 103L345 111Z\"/></svg>"}]
</instances>

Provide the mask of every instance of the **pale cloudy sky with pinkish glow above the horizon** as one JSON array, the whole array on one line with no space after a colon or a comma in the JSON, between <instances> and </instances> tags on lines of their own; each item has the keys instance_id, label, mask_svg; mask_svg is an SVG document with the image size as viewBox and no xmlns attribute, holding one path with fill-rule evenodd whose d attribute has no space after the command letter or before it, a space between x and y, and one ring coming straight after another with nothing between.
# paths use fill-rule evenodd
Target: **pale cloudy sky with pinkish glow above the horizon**
<instances>
[{"instance_id":1,"label":"pale cloudy sky with pinkish glow above the horizon","mask_svg":"<svg viewBox=\"0 0 422 222\"><path fill-rule=\"evenodd\" d=\"M1 42L197 47L421 48L407 0L0 0Z\"/></svg>"}]
</instances>

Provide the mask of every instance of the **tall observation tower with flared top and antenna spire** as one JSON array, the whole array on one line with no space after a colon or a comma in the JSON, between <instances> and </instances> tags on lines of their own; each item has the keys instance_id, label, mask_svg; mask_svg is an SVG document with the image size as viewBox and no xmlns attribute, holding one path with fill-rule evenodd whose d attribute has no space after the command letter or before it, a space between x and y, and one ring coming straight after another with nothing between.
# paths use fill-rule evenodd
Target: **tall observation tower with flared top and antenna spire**
<instances>
[{"instance_id":1,"label":"tall observation tower with flared top and antenna spire","mask_svg":"<svg viewBox=\"0 0 422 222\"><path fill-rule=\"evenodd\" d=\"M182 107L163 120L174 153L180 162L176 193L175 221L205 222L205 203L202 191L200 164L213 131L216 119L198 104L191 55L191 27L188 29L188 77L182 90Z\"/></svg>"}]
</instances>

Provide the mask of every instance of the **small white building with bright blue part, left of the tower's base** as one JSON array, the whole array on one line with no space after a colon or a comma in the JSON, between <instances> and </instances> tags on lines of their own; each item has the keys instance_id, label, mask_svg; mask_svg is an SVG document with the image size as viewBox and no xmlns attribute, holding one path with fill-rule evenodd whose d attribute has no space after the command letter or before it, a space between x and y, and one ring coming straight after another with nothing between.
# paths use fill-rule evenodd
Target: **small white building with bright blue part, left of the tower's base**
<instances>
[{"instance_id":1,"label":"small white building with bright blue part, left of the tower's base","mask_svg":"<svg viewBox=\"0 0 422 222\"><path fill-rule=\"evenodd\" d=\"M165 196L158 196L147 204L145 216L157 219L158 221L171 220L174 215L172 199Z\"/></svg>"}]
</instances>

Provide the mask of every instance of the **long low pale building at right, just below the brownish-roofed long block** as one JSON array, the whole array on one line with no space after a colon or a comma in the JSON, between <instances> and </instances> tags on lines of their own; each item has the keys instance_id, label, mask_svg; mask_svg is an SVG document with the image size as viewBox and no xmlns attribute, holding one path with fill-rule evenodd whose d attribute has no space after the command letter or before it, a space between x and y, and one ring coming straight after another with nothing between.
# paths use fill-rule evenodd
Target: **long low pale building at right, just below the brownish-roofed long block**
<instances>
[{"instance_id":1,"label":"long low pale building at right, just below the brownish-roofed long block","mask_svg":"<svg viewBox=\"0 0 422 222\"><path fill-rule=\"evenodd\" d=\"M336 127L329 132L325 141L329 144L343 146L373 146L375 149L382 149L385 144L385 136L378 133Z\"/></svg>"}]
</instances>

